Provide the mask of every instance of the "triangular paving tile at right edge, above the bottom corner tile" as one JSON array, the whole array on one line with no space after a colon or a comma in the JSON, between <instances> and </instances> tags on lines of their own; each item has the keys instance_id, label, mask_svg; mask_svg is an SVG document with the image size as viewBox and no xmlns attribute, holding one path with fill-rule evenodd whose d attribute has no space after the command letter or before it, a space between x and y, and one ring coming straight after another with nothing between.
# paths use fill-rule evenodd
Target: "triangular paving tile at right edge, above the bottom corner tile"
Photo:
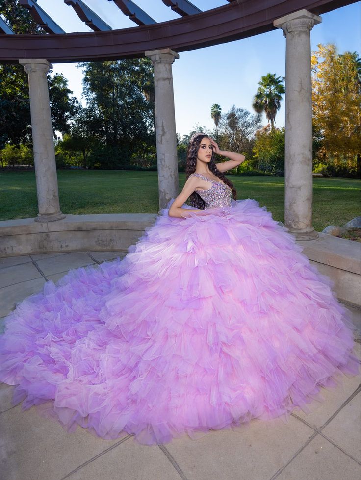
<instances>
[{"instance_id":1,"label":"triangular paving tile at right edge, above the bottom corner tile","mask_svg":"<svg viewBox=\"0 0 361 480\"><path fill-rule=\"evenodd\" d=\"M358 461L361 454L360 401L359 393L322 430L324 435Z\"/></svg>"}]
</instances>

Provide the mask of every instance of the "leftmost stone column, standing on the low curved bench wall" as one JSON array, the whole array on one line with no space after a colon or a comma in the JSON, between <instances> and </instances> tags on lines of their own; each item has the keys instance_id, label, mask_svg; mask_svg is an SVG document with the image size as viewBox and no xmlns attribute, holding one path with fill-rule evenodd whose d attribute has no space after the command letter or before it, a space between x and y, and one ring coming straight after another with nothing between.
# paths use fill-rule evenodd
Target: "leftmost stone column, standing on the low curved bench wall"
<instances>
[{"instance_id":1,"label":"leftmost stone column, standing on the low curved bench wall","mask_svg":"<svg viewBox=\"0 0 361 480\"><path fill-rule=\"evenodd\" d=\"M38 216L35 222L64 218L60 211L56 177L52 116L47 73L51 64L44 59L21 59L29 78L32 143L34 152Z\"/></svg>"}]
</instances>

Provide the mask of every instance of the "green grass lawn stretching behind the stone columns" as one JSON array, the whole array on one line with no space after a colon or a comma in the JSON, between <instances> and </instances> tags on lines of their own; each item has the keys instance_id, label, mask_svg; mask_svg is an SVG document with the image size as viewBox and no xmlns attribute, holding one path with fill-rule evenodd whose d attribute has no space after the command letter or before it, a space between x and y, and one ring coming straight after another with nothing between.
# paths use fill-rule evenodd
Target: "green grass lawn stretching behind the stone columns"
<instances>
[{"instance_id":1,"label":"green grass lawn stretching behind the stone columns","mask_svg":"<svg viewBox=\"0 0 361 480\"><path fill-rule=\"evenodd\" d=\"M238 199L254 198L284 222L284 177L230 176ZM58 171L63 213L155 213L157 173L121 170ZM180 188L185 174L180 173ZM0 172L0 220L37 215L35 173ZM313 226L343 225L360 215L360 182L348 178L313 179Z\"/></svg>"}]
</instances>

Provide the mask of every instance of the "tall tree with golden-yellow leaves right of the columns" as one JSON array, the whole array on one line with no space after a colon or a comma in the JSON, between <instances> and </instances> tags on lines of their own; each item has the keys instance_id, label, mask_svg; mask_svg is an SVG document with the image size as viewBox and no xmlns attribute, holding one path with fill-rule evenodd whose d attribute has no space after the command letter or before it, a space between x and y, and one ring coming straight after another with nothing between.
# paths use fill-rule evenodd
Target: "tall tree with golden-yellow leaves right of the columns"
<instances>
[{"instance_id":1,"label":"tall tree with golden-yellow leaves right of the columns","mask_svg":"<svg viewBox=\"0 0 361 480\"><path fill-rule=\"evenodd\" d=\"M354 170L360 162L361 63L358 53L338 54L335 45L312 52L313 128L326 163Z\"/></svg>"}]
</instances>

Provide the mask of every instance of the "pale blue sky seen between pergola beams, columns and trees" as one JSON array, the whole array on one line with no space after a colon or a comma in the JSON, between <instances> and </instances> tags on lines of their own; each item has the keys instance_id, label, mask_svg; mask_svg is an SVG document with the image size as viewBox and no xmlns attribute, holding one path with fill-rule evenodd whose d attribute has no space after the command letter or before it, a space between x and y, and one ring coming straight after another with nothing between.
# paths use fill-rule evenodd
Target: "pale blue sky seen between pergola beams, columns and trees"
<instances>
[{"instance_id":1,"label":"pale blue sky seen between pergola beams, columns and trees","mask_svg":"<svg viewBox=\"0 0 361 480\"><path fill-rule=\"evenodd\" d=\"M112 28L136 28L112 1L83 1ZM179 18L161 0L135 2L158 22ZM192 0L192 3L201 10L209 10L228 2ZM91 31L63 0L38 0L38 4L66 32ZM334 43L340 53L360 53L360 16L360 2L322 15L322 23L311 31L311 49L316 50L319 43ZM74 94L81 98L82 73L76 64L53 64L53 71L62 73ZM224 113L233 104L252 112L252 98L258 81L268 72L285 75L285 38L281 30L180 53L180 58L173 64L177 132L187 134L196 125L212 129L210 108L213 103L219 103ZM266 125L265 118L263 121ZM276 126L284 126L284 101L276 117Z\"/></svg>"}]
</instances>

